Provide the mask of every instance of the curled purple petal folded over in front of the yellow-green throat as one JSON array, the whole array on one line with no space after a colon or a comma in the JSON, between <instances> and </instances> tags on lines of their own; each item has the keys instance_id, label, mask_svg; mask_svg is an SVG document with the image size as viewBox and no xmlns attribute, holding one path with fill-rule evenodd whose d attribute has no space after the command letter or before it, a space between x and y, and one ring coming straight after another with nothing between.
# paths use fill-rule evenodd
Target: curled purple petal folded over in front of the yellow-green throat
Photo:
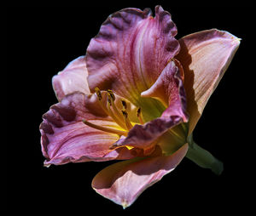
<instances>
[{"instance_id":1,"label":"curled purple petal folded over in front of the yellow-green throat","mask_svg":"<svg viewBox=\"0 0 256 216\"><path fill-rule=\"evenodd\" d=\"M179 68L171 61L162 71L154 85L143 92L143 96L150 96L166 102L168 107L161 117L143 125L131 128L125 139L119 139L113 147L130 145L147 150L156 145L160 136L180 122L187 122L186 97Z\"/></svg>"}]
</instances>

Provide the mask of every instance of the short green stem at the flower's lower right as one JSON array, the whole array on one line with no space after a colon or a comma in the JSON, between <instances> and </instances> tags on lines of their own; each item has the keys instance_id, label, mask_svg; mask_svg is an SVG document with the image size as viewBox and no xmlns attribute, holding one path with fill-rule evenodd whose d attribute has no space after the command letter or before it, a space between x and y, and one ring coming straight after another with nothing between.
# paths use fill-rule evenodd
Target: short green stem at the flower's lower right
<instances>
[{"instance_id":1,"label":"short green stem at the flower's lower right","mask_svg":"<svg viewBox=\"0 0 256 216\"><path fill-rule=\"evenodd\" d=\"M218 161L209 151L204 150L191 139L186 157L201 168L210 168L215 174L219 175L223 171L223 162Z\"/></svg>"}]
</instances>

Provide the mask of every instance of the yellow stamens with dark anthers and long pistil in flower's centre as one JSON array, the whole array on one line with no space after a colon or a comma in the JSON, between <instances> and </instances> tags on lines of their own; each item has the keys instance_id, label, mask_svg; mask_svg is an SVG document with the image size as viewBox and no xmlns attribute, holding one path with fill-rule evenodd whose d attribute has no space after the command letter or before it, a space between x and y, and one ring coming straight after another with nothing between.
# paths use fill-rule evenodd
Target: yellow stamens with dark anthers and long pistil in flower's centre
<instances>
[{"instance_id":1,"label":"yellow stamens with dark anthers and long pistil in flower's centre","mask_svg":"<svg viewBox=\"0 0 256 216\"><path fill-rule=\"evenodd\" d=\"M103 103L102 101L103 97L101 90L99 88L95 88L95 91L102 110L105 111L106 114L113 119L113 122L116 122L119 125L119 129L96 125L92 122L88 122L87 120L83 120L84 124L91 128L96 128L98 130L102 130L108 133L118 134L119 136L127 136L129 130L131 130L131 128L133 127L127 111L127 102L124 99L121 99L121 105L123 108L119 109L114 103L115 95L113 94L112 90L108 89L107 91L107 103ZM143 124L140 107L137 109L137 119L138 122Z\"/></svg>"}]
</instances>

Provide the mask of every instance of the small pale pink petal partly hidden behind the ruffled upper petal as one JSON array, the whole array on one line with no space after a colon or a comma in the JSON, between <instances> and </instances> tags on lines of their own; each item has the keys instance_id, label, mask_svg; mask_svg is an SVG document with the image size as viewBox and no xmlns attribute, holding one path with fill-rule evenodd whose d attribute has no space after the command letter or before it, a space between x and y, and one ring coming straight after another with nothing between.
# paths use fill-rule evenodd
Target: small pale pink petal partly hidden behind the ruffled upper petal
<instances>
[{"instance_id":1,"label":"small pale pink petal partly hidden behind the ruffled upper petal","mask_svg":"<svg viewBox=\"0 0 256 216\"><path fill-rule=\"evenodd\" d=\"M70 62L63 71L52 78L52 85L57 99L61 101L65 95L77 91L90 94L87 76L88 72L84 56L80 56Z\"/></svg>"}]
</instances>

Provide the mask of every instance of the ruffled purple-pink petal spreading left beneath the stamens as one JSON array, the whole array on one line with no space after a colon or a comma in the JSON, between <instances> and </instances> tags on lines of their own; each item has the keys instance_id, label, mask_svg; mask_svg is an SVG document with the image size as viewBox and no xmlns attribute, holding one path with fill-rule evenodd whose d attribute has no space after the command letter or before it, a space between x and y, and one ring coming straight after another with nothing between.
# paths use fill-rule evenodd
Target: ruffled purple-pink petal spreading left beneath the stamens
<instances>
[{"instance_id":1,"label":"ruffled purple-pink petal spreading left beneath the stamens","mask_svg":"<svg viewBox=\"0 0 256 216\"><path fill-rule=\"evenodd\" d=\"M108 128L118 127L102 111L94 94L68 94L60 103L52 105L43 119L40 132L42 151L46 157L45 165L134 157L125 149L115 150L108 155L111 152L109 146L118 140L119 136L90 128L82 122L86 119Z\"/></svg>"}]
</instances>

